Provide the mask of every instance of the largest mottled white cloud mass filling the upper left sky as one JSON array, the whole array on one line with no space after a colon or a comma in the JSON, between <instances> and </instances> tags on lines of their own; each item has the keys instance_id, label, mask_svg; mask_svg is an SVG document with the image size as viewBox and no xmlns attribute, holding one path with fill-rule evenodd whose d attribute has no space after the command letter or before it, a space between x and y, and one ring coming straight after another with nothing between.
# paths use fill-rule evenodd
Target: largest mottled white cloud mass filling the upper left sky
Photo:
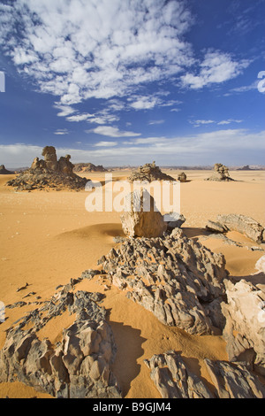
<instances>
[{"instance_id":1,"label":"largest mottled white cloud mass filling the upper left sky","mask_svg":"<svg viewBox=\"0 0 265 416\"><path fill-rule=\"evenodd\" d=\"M125 96L193 62L193 18L180 0L15 0L0 37L21 73L60 104ZM136 104L137 106L137 104Z\"/></svg>"}]
</instances>

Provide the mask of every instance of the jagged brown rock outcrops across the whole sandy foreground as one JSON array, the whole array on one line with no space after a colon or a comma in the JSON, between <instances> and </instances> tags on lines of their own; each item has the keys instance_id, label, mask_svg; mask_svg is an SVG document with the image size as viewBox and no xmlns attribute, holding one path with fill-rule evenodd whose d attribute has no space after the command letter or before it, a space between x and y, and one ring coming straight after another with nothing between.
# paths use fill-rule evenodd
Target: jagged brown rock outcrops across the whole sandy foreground
<instances>
[{"instance_id":1,"label":"jagged brown rock outcrops across the whole sandy foreground","mask_svg":"<svg viewBox=\"0 0 265 416\"><path fill-rule=\"evenodd\" d=\"M252 282L234 281L223 255L178 228L162 237L119 241L99 260L99 270L87 270L57 288L49 301L9 328L0 352L0 381L19 380L53 397L123 397L113 372L117 347L101 305L105 295L78 289L79 282L102 276L166 326L192 335L223 333L230 361L206 359L211 385L193 374L177 351L146 360L162 397L265 398L257 376L265 374L264 273ZM40 329L63 313L75 319L62 328L61 340L53 345L40 339Z\"/></svg>"}]
</instances>

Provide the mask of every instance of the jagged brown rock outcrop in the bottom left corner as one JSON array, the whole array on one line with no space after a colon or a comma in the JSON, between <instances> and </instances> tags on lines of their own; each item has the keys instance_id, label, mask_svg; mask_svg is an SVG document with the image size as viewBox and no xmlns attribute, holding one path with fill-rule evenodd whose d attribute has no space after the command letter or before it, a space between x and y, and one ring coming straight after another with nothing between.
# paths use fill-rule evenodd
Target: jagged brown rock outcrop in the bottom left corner
<instances>
[{"instance_id":1,"label":"jagged brown rock outcrop in the bottom left corner","mask_svg":"<svg viewBox=\"0 0 265 416\"><path fill-rule=\"evenodd\" d=\"M87 271L83 278L95 273ZM106 311L98 304L104 295L71 288L65 285L9 328L0 351L0 382L22 381L53 397L119 398L111 369L117 347ZM52 345L48 338L40 340L38 331L67 309L76 319L64 329L62 341Z\"/></svg>"}]
</instances>

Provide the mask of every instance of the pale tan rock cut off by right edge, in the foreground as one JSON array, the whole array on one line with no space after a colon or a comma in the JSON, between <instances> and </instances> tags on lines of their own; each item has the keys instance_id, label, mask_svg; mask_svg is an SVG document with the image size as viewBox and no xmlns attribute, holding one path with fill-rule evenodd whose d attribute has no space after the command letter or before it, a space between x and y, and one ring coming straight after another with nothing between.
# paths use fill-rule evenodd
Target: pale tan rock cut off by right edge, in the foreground
<instances>
[{"instance_id":1,"label":"pale tan rock cut off by right edge, in the foreground","mask_svg":"<svg viewBox=\"0 0 265 416\"><path fill-rule=\"evenodd\" d=\"M227 301L221 304L226 320L223 338L231 361L244 358L265 375L265 275L254 277L236 283L224 281Z\"/></svg>"}]
</instances>

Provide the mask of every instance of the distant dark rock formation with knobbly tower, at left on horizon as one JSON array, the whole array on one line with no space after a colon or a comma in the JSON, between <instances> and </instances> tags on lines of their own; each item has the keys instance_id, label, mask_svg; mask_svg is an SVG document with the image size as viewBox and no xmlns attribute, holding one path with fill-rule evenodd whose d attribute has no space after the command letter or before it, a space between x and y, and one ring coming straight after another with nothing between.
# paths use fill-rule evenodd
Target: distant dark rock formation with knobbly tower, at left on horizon
<instances>
[{"instance_id":1,"label":"distant dark rock formation with knobbly tower, at left on horizon","mask_svg":"<svg viewBox=\"0 0 265 416\"><path fill-rule=\"evenodd\" d=\"M73 173L70 155L59 158L53 146L46 146L42 150L43 159L34 158L32 166L26 171L8 181L6 185L17 187L17 190L33 189L84 189L86 178L80 178Z\"/></svg>"}]
</instances>

